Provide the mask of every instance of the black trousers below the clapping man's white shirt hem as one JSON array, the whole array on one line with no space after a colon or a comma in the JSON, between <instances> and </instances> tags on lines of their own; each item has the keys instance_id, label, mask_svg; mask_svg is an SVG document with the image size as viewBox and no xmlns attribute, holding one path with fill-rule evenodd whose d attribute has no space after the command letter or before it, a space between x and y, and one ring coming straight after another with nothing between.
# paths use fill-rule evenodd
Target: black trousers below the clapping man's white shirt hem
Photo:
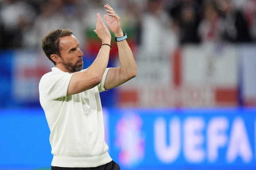
<instances>
[{"instance_id":1,"label":"black trousers below the clapping man's white shirt hem","mask_svg":"<svg viewBox=\"0 0 256 170\"><path fill-rule=\"evenodd\" d=\"M113 160L107 164L92 168L65 168L52 166L52 170L120 170L120 166Z\"/></svg>"}]
</instances>

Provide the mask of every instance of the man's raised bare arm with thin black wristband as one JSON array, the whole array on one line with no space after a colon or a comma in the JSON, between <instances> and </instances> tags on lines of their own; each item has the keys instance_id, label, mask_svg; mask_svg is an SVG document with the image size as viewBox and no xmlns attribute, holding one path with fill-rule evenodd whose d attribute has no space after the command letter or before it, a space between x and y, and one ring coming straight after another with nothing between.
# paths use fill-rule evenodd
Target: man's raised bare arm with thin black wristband
<instances>
[{"instance_id":1,"label":"man's raised bare arm with thin black wristband","mask_svg":"<svg viewBox=\"0 0 256 170\"><path fill-rule=\"evenodd\" d=\"M100 14L97 14L96 29L94 32L102 40L102 44L109 44L111 35L108 28L102 21ZM75 72L68 86L68 95L77 94L97 86L108 65L110 47L102 45L94 62L86 69L85 72Z\"/></svg>"}]
</instances>

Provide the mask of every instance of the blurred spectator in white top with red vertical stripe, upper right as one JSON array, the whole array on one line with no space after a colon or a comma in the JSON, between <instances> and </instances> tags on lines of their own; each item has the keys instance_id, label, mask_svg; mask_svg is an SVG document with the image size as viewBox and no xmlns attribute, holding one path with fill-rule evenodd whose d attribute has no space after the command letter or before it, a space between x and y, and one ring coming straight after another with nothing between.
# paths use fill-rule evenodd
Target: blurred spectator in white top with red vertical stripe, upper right
<instances>
[{"instance_id":1,"label":"blurred spectator in white top with red vertical stripe, upper right","mask_svg":"<svg viewBox=\"0 0 256 170\"><path fill-rule=\"evenodd\" d=\"M224 28L215 2L204 1L202 9L202 20L198 28L198 35L202 43L221 41Z\"/></svg>"}]
</instances>

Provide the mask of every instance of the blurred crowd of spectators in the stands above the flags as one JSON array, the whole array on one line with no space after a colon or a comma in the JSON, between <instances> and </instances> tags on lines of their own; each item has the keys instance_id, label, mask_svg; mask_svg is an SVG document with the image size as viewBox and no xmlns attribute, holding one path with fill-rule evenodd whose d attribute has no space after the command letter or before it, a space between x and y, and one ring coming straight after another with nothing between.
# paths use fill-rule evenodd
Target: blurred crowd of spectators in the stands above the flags
<instances>
[{"instance_id":1,"label":"blurred crowd of spectators in the stands above the flags","mask_svg":"<svg viewBox=\"0 0 256 170\"><path fill-rule=\"evenodd\" d=\"M0 49L40 47L56 28L72 29L86 46L106 3L148 49L165 42L256 42L256 0L0 0Z\"/></svg>"}]
</instances>

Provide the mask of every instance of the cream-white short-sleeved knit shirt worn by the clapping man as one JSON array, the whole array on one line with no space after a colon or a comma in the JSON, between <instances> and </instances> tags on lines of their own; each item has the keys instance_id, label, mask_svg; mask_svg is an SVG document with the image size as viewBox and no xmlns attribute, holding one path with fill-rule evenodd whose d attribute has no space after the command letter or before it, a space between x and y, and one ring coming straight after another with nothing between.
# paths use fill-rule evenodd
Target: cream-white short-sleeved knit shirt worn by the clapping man
<instances>
[{"instance_id":1,"label":"cream-white short-sleeved knit shirt worn by the clapping man","mask_svg":"<svg viewBox=\"0 0 256 170\"><path fill-rule=\"evenodd\" d=\"M42 76L39 96L50 128L52 166L96 167L112 160L104 140L99 94L105 91L108 70L98 86L69 96L68 85L73 73L53 67Z\"/></svg>"}]
</instances>

